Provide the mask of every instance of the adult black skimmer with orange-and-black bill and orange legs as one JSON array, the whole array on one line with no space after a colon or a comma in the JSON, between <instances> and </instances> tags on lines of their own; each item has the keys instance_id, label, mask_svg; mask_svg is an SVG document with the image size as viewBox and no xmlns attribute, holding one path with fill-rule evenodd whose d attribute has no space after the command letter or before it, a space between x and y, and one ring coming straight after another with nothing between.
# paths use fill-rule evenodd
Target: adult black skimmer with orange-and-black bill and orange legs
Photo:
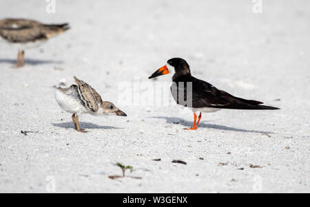
<instances>
[{"instance_id":1,"label":"adult black skimmer with orange-and-black bill and orange legs","mask_svg":"<svg viewBox=\"0 0 310 207\"><path fill-rule=\"evenodd\" d=\"M168 69L169 68L169 69ZM213 85L192 76L189 65L182 58L172 58L167 65L158 69L149 78L174 73L172 76L172 96L178 105L191 107L194 112L194 124L188 130L196 130L201 112L215 112L220 109L274 110L276 107L261 105L263 102L232 96ZM180 93L181 91L181 93ZM180 93L180 94L179 94ZM183 94L184 93L184 94ZM182 97L181 97L182 96ZM187 98L192 101L187 102ZM198 122L196 112L199 111Z\"/></svg>"}]
</instances>

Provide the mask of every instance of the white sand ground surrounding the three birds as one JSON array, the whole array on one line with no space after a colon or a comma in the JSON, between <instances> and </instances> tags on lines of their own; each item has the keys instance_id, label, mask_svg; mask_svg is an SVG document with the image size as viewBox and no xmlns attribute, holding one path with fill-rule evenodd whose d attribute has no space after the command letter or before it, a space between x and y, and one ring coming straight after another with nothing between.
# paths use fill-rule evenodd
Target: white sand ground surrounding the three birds
<instances>
[{"instance_id":1,"label":"white sand ground surrounding the three birds","mask_svg":"<svg viewBox=\"0 0 310 207\"><path fill-rule=\"evenodd\" d=\"M45 1L1 2L0 19L72 29L26 51L21 69L12 68L17 50L0 44L0 192L309 193L310 2L262 3L254 14L252 1L57 0L56 14L47 14ZM197 131L184 131L191 111L119 98L119 84L134 77L168 81L147 77L174 56L197 78L281 110L203 114ZM72 76L128 116L81 116L90 132L77 133L52 89ZM116 162L143 179L108 178L121 175Z\"/></svg>"}]
</instances>

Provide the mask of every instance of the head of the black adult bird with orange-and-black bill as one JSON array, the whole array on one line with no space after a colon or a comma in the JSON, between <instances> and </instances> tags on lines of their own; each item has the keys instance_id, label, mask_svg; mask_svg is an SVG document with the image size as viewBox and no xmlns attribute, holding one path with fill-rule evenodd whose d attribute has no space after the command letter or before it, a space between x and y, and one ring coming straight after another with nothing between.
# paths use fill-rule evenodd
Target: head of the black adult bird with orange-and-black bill
<instances>
[{"instance_id":1,"label":"head of the black adult bird with orange-and-black bill","mask_svg":"<svg viewBox=\"0 0 310 207\"><path fill-rule=\"evenodd\" d=\"M164 65L160 69L158 69L152 76L149 78L155 78L157 76L165 75L172 73L172 79L175 80L179 76L191 75L191 71L189 70L189 65L183 58L171 58L167 61L167 65Z\"/></svg>"}]
</instances>

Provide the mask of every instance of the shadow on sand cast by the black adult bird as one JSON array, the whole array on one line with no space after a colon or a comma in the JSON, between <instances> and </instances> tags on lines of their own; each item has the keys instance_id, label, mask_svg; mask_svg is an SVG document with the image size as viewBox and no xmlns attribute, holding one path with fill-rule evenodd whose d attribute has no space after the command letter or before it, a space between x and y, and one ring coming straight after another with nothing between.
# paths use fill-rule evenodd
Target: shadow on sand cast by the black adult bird
<instances>
[{"instance_id":1,"label":"shadow on sand cast by the black adult bird","mask_svg":"<svg viewBox=\"0 0 310 207\"><path fill-rule=\"evenodd\" d=\"M182 118L176 118L176 117L166 117L166 116L155 116L150 118L162 118L165 119L167 124L175 124L178 122L179 124L182 124L184 127L192 127L193 122L189 122L187 120L184 120ZM193 120L194 121L194 120ZM219 130L225 130L225 131L240 131L240 132L251 132L251 133L273 133L271 131L256 131L256 130L247 130L247 129L238 129L234 127L227 127L224 125L218 125L218 124L206 124L206 121L199 122L198 128L210 128L210 129L219 129Z\"/></svg>"}]
</instances>

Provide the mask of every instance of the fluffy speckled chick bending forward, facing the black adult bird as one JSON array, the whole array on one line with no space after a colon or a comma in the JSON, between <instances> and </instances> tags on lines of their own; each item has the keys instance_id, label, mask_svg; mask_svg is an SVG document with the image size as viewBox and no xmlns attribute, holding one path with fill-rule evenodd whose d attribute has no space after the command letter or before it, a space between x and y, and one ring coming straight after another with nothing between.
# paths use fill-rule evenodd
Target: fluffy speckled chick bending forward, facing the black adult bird
<instances>
[{"instance_id":1,"label":"fluffy speckled chick bending forward, facing the black adult bird","mask_svg":"<svg viewBox=\"0 0 310 207\"><path fill-rule=\"evenodd\" d=\"M55 99L61 109L72 113L72 121L79 132L87 132L79 126L79 115L90 113L92 115L127 116L126 113L118 109L112 102L103 101L101 96L90 85L83 80L73 77L76 85L68 88L54 87Z\"/></svg>"}]
</instances>

